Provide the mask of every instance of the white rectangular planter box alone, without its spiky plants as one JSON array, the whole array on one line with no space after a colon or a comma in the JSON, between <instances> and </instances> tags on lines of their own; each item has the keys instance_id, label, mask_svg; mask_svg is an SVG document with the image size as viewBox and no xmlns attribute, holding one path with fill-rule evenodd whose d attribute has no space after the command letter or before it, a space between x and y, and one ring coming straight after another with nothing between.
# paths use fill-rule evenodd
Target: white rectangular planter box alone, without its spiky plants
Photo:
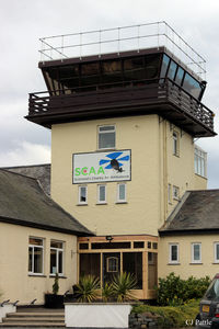
<instances>
[{"instance_id":1,"label":"white rectangular planter box alone, without its spiky plants","mask_svg":"<svg viewBox=\"0 0 219 329\"><path fill-rule=\"evenodd\" d=\"M128 328L129 303L65 303L66 327Z\"/></svg>"}]
</instances>

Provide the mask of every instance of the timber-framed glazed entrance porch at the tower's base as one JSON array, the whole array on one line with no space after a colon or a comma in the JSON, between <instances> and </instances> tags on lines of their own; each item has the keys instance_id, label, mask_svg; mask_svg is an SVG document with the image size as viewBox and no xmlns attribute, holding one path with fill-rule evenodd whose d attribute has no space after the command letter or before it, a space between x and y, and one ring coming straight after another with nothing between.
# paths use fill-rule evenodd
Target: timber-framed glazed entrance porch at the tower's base
<instances>
[{"instance_id":1,"label":"timber-framed glazed entrance porch at the tower's base","mask_svg":"<svg viewBox=\"0 0 219 329\"><path fill-rule=\"evenodd\" d=\"M113 275L127 272L137 279L138 299L155 298L158 284L158 237L104 236L78 238L78 280L91 274L100 277L101 287Z\"/></svg>"}]
</instances>

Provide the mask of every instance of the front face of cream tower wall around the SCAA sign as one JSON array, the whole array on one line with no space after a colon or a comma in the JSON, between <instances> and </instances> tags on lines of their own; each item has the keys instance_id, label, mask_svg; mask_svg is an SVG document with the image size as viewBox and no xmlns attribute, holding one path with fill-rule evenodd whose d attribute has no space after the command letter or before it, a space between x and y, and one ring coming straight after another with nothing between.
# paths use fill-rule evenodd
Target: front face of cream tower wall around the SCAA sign
<instances>
[{"instance_id":1,"label":"front face of cream tower wall around the SCAA sign","mask_svg":"<svg viewBox=\"0 0 219 329\"><path fill-rule=\"evenodd\" d=\"M88 206L78 206L72 154L97 149L97 126L116 125L116 150L131 149L127 204L116 204L117 183L107 185L107 205L96 205L97 184L88 184ZM159 117L107 118L54 125L51 197L96 235L158 235L160 220Z\"/></svg>"}]
</instances>

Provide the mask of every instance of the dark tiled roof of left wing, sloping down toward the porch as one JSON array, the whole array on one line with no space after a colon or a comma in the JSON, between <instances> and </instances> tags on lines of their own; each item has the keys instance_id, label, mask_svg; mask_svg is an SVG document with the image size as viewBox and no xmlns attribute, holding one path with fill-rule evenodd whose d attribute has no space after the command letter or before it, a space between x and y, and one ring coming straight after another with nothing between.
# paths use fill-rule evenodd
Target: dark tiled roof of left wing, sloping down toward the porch
<instances>
[{"instance_id":1,"label":"dark tiled roof of left wing, sloping down toward the porch","mask_svg":"<svg viewBox=\"0 0 219 329\"><path fill-rule=\"evenodd\" d=\"M0 169L0 222L74 234L93 235L44 193L38 181Z\"/></svg>"}]
</instances>

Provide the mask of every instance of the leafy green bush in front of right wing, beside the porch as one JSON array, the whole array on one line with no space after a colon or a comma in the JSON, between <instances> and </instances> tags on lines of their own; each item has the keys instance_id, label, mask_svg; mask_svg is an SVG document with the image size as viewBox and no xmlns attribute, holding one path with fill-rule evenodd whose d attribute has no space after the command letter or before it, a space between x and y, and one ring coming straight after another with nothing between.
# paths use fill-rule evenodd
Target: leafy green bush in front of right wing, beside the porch
<instances>
[{"instance_id":1,"label":"leafy green bush in front of right wing, beside the porch","mask_svg":"<svg viewBox=\"0 0 219 329\"><path fill-rule=\"evenodd\" d=\"M159 279L158 304L161 306L183 305L191 299L201 298L210 284L210 277L189 276L182 280L173 272L165 279Z\"/></svg>"}]
</instances>

